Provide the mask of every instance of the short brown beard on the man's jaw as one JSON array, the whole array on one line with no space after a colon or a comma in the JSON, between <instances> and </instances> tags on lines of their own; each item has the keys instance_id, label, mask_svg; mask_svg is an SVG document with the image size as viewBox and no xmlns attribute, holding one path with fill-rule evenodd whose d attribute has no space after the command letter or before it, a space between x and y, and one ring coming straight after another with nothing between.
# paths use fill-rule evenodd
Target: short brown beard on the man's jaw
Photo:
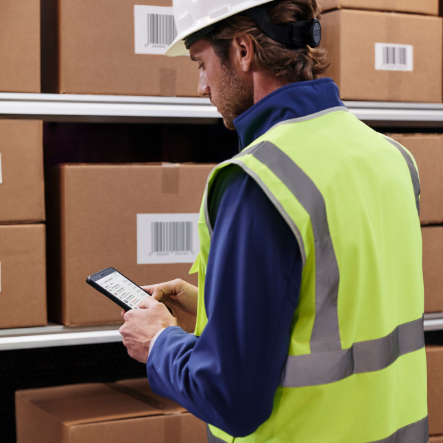
<instances>
[{"instance_id":1,"label":"short brown beard on the man's jaw","mask_svg":"<svg viewBox=\"0 0 443 443\"><path fill-rule=\"evenodd\" d=\"M226 128L235 130L234 119L254 104L254 88L250 82L240 77L230 62L223 64L220 93L217 106Z\"/></svg>"}]
</instances>

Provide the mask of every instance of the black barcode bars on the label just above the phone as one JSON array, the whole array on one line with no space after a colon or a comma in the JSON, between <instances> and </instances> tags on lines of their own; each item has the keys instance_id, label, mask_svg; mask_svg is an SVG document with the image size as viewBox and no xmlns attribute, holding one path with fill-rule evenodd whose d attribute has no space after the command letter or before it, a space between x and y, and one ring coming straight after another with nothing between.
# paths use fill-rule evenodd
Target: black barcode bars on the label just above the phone
<instances>
[{"instance_id":1,"label":"black barcode bars on the label just above the phone","mask_svg":"<svg viewBox=\"0 0 443 443\"><path fill-rule=\"evenodd\" d=\"M151 253L192 252L192 221L154 221L151 224Z\"/></svg>"}]
</instances>

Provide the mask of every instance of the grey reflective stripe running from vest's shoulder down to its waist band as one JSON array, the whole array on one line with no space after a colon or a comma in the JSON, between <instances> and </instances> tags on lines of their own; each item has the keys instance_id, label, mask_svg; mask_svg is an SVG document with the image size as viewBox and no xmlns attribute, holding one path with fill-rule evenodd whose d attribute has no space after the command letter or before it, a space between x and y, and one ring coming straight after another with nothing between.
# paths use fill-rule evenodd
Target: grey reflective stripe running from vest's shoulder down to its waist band
<instances>
[{"instance_id":1,"label":"grey reflective stripe running from vest's shoulder down to its waist band","mask_svg":"<svg viewBox=\"0 0 443 443\"><path fill-rule=\"evenodd\" d=\"M311 217L315 245L315 319L311 352L341 350L337 311L339 270L322 194L311 178L269 141L245 149L236 157L241 154L252 154L274 172Z\"/></svg>"}]
</instances>

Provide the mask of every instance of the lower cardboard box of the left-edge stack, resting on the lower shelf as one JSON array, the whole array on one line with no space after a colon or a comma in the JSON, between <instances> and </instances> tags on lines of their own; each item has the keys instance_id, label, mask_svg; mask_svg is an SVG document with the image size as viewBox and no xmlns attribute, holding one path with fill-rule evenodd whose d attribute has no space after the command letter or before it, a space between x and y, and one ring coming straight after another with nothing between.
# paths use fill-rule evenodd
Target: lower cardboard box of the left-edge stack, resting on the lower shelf
<instances>
[{"instance_id":1,"label":"lower cardboard box of the left-edge stack, resting on the lower shelf","mask_svg":"<svg viewBox=\"0 0 443 443\"><path fill-rule=\"evenodd\" d=\"M0 328L45 326L45 225L0 226Z\"/></svg>"}]
</instances>

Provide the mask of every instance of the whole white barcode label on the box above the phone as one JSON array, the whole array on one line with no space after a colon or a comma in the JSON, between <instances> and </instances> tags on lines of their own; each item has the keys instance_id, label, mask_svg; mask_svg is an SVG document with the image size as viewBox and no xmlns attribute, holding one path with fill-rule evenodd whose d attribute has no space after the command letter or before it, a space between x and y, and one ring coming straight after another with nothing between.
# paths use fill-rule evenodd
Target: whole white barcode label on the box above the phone
<instances>
[{"instance_id":1,"label":"whole white barcode label on the box above the phone","mask_svg":"<svg viewBox=\"0 0 443 443\"><path fill-rule=\"evenodd\" d=\"M193 263L198 214L137 214L137 264Z\"/></svg>"}]
</instances>

